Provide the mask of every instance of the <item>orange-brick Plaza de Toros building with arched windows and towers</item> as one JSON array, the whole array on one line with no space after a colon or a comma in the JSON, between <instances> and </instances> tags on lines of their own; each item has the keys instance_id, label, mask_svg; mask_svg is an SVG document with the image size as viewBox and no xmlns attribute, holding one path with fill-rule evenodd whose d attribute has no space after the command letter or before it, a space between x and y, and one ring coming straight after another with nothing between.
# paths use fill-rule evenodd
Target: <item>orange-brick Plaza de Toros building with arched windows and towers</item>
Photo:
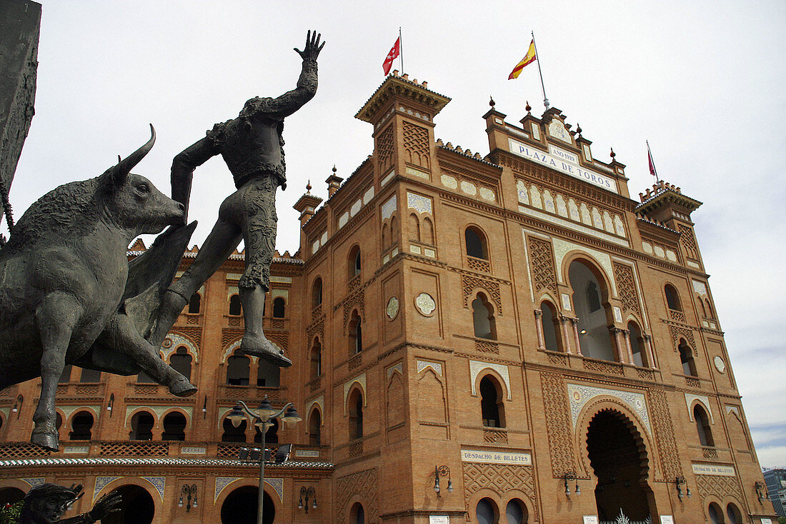
<instances>
[{"instance_id":1,"label":"orange-brick Plaza de Toros building with arched windows and towers","mask_svg":"<svg viewBox=\"0 0 786 524\"><path fill-rule=\"evenodd\" d=\"M0 501L80 482L79 512L123 491L111 522L255 522L258 469L237 455L261 433L226 415L267 396L303 421L266 434L293 448L266 468L265 522L774 520L700 201L666 182L631 199L625 166L556 108L516 123L492 105L487 155L435 140L449 101L394 72L355 115L373 154L296 203L264 318L291 368L237 352L235 253L163 346L195 396L68 368L61 449L42 453L39 382L0 393Z\"/></svg>"}]
</instances>

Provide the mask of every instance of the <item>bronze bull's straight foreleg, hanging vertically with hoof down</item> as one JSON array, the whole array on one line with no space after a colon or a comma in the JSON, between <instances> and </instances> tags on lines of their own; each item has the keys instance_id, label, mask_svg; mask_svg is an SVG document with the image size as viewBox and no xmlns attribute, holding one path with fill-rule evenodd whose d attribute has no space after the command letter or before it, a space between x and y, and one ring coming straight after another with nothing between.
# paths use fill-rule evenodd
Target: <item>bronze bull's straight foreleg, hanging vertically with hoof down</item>
<instances>
[{"instance_id":1,"label":"bronze bull's straight foreleg, hanging vertically with hoof down","mask_svg":"<svg viewBox=\"0 0 786 524\"><path fill-rule=\"evenodd\" d=\"M65 352L73 329L82 316L79 301L67 293L47 295L35 311L35 321L41 335L41 398L33 415L33 434L30 441L46 449L57 451L57 413L54 397L57 380L65 366Z\"/></svg>"}]
</instances>

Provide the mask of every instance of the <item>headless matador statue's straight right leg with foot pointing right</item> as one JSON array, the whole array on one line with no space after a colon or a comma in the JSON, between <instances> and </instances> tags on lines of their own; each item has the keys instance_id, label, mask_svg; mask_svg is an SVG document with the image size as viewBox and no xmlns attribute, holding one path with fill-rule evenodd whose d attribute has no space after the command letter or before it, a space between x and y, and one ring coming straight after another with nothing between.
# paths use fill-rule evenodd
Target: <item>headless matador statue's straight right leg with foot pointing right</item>
<instances>
[{"instance_id":1,"label":"headless matador statue's straight right leg with foot pointing right","mask_svg":"<svg viewBox=\"0 0 786 524\"><path fill-rule=\"evenodd\" d=\"M265 293L270 288L270 263L276 247L276 188L277 180L272 177L257 179L244 187L246 267L237 287L245 324L241 351L286 368L292 361L263 332Z\"/></svg>"}]
</instances>

